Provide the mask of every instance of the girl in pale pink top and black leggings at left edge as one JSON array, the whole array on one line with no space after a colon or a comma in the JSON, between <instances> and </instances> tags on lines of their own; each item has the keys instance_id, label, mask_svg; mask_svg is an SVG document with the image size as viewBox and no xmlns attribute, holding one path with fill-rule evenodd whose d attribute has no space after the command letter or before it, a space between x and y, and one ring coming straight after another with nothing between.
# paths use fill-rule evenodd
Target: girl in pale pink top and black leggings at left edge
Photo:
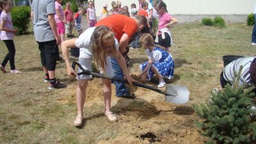
<instances>
[{"instance_id":1,"label":"girl in pale pink top and black leggings at left edge","mask_svg":"<svg viewBox=\"0 0 256 144\"><path fill-rule=\"evenodd\" d=\"M10 61L10 73L11 74L20 74L19 70L15 68L15 45L13 42L14 34L18 32L18 29L13 28L12 17L10 11L12 10L11 1L1 0L0 8L3 10L1 13L1 40L4 41L8 49L8 54L6 54L3 62L0 65L0 69L2 72L6 72L5 65L8 61Z\"/></svg>"}]
</instances>

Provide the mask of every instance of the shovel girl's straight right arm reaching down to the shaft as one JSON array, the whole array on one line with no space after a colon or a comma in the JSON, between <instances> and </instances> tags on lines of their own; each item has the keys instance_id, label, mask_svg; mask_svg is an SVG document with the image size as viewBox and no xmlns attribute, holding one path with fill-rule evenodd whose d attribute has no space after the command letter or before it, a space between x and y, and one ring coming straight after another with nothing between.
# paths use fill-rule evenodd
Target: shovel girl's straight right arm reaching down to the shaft
<instances>
[{"instance_id":1,"label":"shovel girl's straight right arm reaching down to the shaft","mask_svg":"<svg viewBox=\"0 0 256 144\"><path fill-rule=\"evenodd\" d=\"M118 64L120 65L120 67L122 68L122 70L124 72L124 76L127 79L127 81L129 82L129 84L132 85L132 82L136 82L129 75L129 71L128 71L128 68L126 66L126 63L125 63L125 60L124 60L124 56L122 56L120 51L117 51L116 60L117 60Z\"/></svg>"}]
</instances>

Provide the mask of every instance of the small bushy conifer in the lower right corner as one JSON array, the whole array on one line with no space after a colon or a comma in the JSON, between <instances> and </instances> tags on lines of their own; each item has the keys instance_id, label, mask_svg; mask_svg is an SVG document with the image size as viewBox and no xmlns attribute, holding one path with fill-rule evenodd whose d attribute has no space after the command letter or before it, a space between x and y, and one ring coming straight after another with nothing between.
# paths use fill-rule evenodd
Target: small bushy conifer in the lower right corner
<instances>
[{"instance_id":1,"label":"small bushy conifer in the lower right corner","mask_svg":"<svg viewBox=\"0 0 256 144\"><path fill-rule=\"evenodd\" d=\"M240 75L240 74L239 74ZM211 92L209 102L194 104L195 112L204 122L196 122L202 134L210 138L207 143L250 143L256 140L256 124L250 118L254 87L244 90L236 82L227 84L222 92ZM215 141L214 141L215 140Z\"/></svg>"}]
</instances>

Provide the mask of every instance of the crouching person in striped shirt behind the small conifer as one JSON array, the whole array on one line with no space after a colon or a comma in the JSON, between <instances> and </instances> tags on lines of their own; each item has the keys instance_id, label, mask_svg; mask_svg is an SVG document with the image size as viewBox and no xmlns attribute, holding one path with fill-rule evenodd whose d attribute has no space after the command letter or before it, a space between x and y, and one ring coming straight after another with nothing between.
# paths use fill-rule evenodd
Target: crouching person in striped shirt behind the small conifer
<instances>
[{"instance_id":1,"label":"crouching person in striped shirt behind the small conifer","mask_svg":"<svg viewBox=\"0 0 256 144\"><path fill-rule=\"evenodd\" d=\"M234 73L238 74L240 67L243 67L241 70L241 77L239 79L239 86L242 86L244 83L245 87L249 88L250 86L255 86L256 84L256 57L246 57L239 58L232 61L226 67L223 68L223 71L220 75L221 87L224 88L227 83L234 83ZM256 92L256 90L254 90Z\"/></svg>"}]
</instances>

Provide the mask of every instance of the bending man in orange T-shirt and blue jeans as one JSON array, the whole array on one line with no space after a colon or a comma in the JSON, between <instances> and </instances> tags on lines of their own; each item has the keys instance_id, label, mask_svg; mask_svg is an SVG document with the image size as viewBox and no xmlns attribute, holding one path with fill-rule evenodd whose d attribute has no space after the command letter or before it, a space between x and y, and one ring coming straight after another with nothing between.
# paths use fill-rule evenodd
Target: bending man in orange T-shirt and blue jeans
<instances>
[{"instance_id":1,"label":"bending man in orange T-shirt and blue jeans","mask_svg":"<svg viewBox=\"0 0 256 144\"><path fill-rule=\"evenodd\" d=\"M123 56L125 56L127 54L127 49L125 49L125 47L127 47L129 44L129 38L131 38L132 35L134 35L134 33L137 31L145 28L147 25L147 19L143 16L137 16L132 19L126 15L111 15L97 22L95 26L100 25L107 26L108 28L112 29L112 31L115 33L115 38L118 40L120 47L119 51ZM120 68L120 65L118 65L116 58L111 58L111 64L115 76L120 79L124 79L123 71ZM134 93L128 91L124 83L115 81L115 86L117 97L128 99L134 99L136 97Z\"/></svg>"}]
</instances>

